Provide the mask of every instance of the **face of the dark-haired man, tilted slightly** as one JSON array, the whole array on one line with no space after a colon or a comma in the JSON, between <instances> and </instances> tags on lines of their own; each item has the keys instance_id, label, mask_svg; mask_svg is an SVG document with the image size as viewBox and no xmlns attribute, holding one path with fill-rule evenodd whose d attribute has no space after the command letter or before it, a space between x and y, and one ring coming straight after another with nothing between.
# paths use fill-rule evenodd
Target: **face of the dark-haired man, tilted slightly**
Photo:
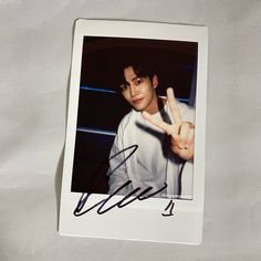
<instances>
[{"instance_id":1,"label":"face of the dark-haired man, tilted slightly","mask_svg":"<svg viewBox=\"0 0 261 261\"><path fill-rule=\"evenodd\" d=\"M146 111L154 114L158 111L157 95L155 88L158 85L157 75L138 77L132 66L124 69L126 83L123 84L122 94L124 98L138 112Z\"/></svg>"}]
</instances>

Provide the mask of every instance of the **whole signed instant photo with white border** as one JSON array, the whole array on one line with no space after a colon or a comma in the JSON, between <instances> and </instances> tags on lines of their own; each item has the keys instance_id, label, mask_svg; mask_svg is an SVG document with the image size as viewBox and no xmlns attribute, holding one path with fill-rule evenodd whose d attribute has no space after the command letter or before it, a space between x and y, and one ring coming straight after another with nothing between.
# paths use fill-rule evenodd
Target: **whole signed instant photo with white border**
<instances>
[{"instance_id":1,"label":"whole signed instant photo with white border","mask_svg":"<svg viewBox=\"0 0 261 261\"><path fill-rule=\"evenodd\" d=\"M59 232L199 244L207 28L75 22Z\"/></svg>"}]
</instances>

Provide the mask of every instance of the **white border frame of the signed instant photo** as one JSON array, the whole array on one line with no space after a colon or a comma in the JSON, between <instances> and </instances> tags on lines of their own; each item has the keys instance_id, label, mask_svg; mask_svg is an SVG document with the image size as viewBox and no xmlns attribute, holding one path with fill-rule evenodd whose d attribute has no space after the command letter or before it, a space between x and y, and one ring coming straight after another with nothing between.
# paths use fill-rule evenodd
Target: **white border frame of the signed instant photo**
<instances>
[{"instance_id":1,"label":"white border frame of the signed instant photo","mask_svg":"<svg viewBox=\"0 0 261 261\"><path fill-rule=\"evenodd\" d=\"M169 202L169 199L164 198L136 200L125 208L114 208L104 215L98 215L95 209L80 217L73 215L82 195L81 192L71 192L71 182L84 36L176 40L198 43L194 197L192 200L174 199L175 207L174 216L171 217L161 216ZM199 244L201 242L205 191L207 60L208 29L202 25L76 20L59 220L60 234L187 244ZM90 206L94 205L106 197L107 195L92 195L88 198L88 203ZM121 198L122 196L115 196L113 200L117 201Z\"/></svg>"}]
</instances>

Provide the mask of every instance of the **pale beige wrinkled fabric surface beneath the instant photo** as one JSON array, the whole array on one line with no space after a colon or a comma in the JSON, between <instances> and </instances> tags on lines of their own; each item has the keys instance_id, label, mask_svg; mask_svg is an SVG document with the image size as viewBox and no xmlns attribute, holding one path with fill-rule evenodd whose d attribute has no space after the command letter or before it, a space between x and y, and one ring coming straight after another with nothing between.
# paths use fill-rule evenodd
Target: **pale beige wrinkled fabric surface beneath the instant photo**
<instances>
[{"instance_id":1,"label":"pale beige wrinkled fabric surface beneath the instant photo","mask_svg":"<svg viewBox=\"0 0 261 261\"><path fill-rule=\"evenodd\" d=\"M209 28L207 166L200 247L56 232L73 22ZM0 260L259 260L261 1L0 1Z\"/></svg>"}]
</instances>

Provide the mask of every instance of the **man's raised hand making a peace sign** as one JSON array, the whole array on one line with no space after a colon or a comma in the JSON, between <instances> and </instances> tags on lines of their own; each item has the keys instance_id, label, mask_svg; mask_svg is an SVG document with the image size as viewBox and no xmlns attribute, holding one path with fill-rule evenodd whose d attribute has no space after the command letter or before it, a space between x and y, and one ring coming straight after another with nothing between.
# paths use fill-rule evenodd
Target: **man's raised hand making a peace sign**
<instances>
[{"instance_id":1,"label":"man's raised hand making a peace sign","mask_svg":"<svg viewBox=\"0 0 261 261\"><path fill-rule=\"evenodd\" d=\"M171 137L170 148L173 153L182 159L189 160L194 157L195 126L192 123L182 121L173 88L167 88L167 105L173 114L173 124L154 118L147 112L143 112L143 116Z\"/></svg>"}]
</instances>

